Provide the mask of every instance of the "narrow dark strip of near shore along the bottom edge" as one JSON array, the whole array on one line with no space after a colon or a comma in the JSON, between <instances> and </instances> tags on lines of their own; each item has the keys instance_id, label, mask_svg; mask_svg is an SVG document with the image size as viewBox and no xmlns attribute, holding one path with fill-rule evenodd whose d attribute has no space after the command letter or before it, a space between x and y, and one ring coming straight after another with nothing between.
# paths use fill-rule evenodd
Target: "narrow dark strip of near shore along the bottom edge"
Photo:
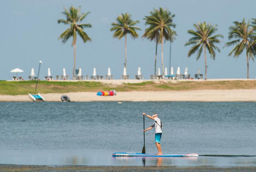
<instances>
[{"instance_id":1,"label":"narrow dark strip of near shore along the bottom edge","mask_svg":"<svg viewBox=\"0 0 256 172\"><path fill-rule=\"evenodd\" d=\"M256 167L215 167L215 166L192 166L192 167L177 167L177 166L83 166L83 165L16 165L16 164L0 164L0 171L118 171L118 172L169 172L169 171L254 171Z\"/></svg>"}]
</instances>

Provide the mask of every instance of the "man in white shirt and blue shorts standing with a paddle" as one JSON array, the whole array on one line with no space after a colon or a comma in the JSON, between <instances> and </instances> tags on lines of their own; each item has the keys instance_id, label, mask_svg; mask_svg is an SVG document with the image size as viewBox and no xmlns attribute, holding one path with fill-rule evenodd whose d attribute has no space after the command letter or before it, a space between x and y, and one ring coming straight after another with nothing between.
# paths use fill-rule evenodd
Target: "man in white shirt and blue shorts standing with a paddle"
<instances>
[{"instance_id":1,"label":"man in white shirt and blue shorts standing with a paddle","mask_svg":"<svg viewBox=\"0 0 256 172\"><path fill-rule=\"evenodd\" d=\"M155 130L155 145L157 146L157 150L158 150L157 155L162 155L162 149L161 149L161 145L160 145L160 140L161 140L161 136L162 136L161 121L158 118L158 115L156 113L154 113L154 115L152 115L152 116L150 116L146 113L143 113L142 115L146 115L148 118L153 119L155 121L153 123L153 125L148 127L146 130L143 130L143 132L145 132L147 130L151 130L154 127L154 130Z\"/></svg>"}]
</instances>

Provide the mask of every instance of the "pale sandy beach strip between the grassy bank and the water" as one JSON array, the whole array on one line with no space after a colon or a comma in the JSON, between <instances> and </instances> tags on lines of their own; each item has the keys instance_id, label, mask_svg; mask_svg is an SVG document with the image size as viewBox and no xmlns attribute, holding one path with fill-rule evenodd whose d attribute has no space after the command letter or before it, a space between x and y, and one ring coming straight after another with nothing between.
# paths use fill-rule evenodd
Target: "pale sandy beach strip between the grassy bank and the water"
<instances>
[{"instance_id":1,"label":"pale sandy beach strip between the grassy bank and the water","mask_svg":"<svg viewBox=\"0 0 256 172\"><path fill-rule=\"evenodd\" d=\"M74 102L90 101L199 101L199 102L255 102L256 89L194 90L194 91L131 91L117 92L116 96L97 96L96 92L42 94L46 101L60 102L68 95ZM30 102L28 95L0 95L1 102Z\"/></svg>"}]
</instances>

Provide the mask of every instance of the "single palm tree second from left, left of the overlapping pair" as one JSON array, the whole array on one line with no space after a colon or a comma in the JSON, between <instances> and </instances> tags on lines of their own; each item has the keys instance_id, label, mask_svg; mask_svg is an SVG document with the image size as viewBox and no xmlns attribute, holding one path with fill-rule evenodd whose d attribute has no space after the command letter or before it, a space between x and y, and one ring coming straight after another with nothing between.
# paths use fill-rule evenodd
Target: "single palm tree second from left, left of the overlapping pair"
<instances>
[{"instance_id":1,"label":"single palm tree second from left, left of the overlapping pair","mask_svg":"<svg viewBox=\"0 0 256 172\"><path fill-rule=\"evenodd\" d=\"M138 38L139 35L136 30L140 30L139 27L134 25L139 23L139 20L133 21L131 19L131 14L125 13L117 17L117 23L112 23L110 31L114 31L113 37L121 39L125 37L125 62L124 67L127 65L127 34L130 34L133 39Z\"/></svg>"}]
</instances>

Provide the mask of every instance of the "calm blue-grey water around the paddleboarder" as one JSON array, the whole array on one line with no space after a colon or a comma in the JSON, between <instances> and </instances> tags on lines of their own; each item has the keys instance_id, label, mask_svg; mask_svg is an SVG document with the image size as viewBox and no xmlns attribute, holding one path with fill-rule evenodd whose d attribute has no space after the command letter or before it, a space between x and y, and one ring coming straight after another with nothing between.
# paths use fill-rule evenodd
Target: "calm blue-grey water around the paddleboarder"
<instances>
[{"instance_id":1,"label":"calm blue-grey water around the paddleboarder","mask_svg":"<svg viewBox=\"0 0 256 172\"><path fill-rule=\"evenodd\" d=\"M256 166L256 103L1 102L0 164ZM141 152L142 112L163 122L163 153L199 157L112 157ZM153 121L145 118L145 127ZM146 153L157 153L154 131ZM224 156L229 155L229 156Z\"/></svg>"}]
</instances>

